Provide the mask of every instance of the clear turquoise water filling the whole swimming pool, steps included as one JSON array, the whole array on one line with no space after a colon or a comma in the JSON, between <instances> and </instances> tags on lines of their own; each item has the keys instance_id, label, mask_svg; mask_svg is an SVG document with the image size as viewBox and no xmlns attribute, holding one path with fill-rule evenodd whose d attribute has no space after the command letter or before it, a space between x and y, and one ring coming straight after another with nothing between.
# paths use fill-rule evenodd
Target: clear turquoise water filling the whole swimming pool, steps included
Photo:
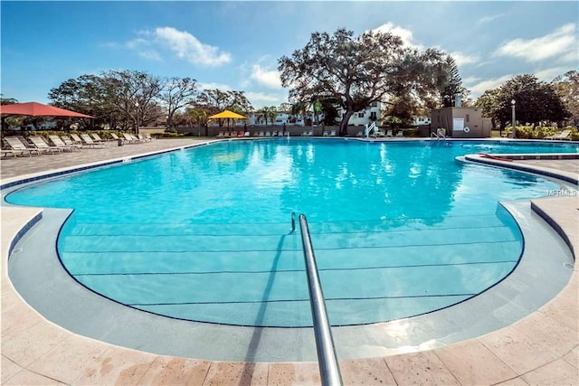
<instances>
[{"instance_id":1,"label":"clear turquoise water filling the whole swimming pool, steps included","mask_svg":"<svg viewBox=\"0 0 579 386\"><path fill-rule=\"evenodd\" d=\"M303 212L330 323L368 324L467 300L516 267L523 240L498 202L559 187L454 159L480 151L577 150L226 141L33 184L6 201L74 208L58 252L82 285L229 325L311 325L301 240L289 232L290 213Z\"/></svg>"}]
</instances>

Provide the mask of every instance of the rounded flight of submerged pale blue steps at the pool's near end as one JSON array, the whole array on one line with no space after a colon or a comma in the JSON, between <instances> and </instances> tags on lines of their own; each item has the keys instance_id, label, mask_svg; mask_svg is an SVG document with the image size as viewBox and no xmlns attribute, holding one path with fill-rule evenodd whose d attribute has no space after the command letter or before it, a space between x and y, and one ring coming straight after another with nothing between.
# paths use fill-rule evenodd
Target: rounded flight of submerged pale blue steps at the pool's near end
<instances>
[{"instance_id":1,"label":"rounded flight of submerged pale blue steps at the pool's near end","mask_svg":"<svg viewBox=\"0 0 579 386\"><path fill-rule=\"evenodd\" d=\"M508 275L522 250L513 228L464 220L428 229L425 219L312 223L330 323L420 315ZM127 306L193 321L309 326L301 238L288 228L76 223L59 253L80 283ZM353 269L363 285L350 283Z\"/></svg>"}]
</instances>

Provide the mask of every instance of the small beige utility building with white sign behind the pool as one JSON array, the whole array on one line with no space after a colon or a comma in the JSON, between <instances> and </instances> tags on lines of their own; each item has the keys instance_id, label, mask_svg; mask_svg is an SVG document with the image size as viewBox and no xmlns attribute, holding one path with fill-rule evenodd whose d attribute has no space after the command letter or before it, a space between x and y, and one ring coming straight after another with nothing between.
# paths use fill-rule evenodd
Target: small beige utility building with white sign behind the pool
<instances>
[{"instance_id":1,"label":"small beige utility building with white sign behind the pool","mask_svg":"<svg viewBox=\"0 0 579 386\"><path fill-rule=\"evenodd\" d=\"M436 108L431 112L432 132L446 129L446 137L490 137L490 119L482 118L482 108Z\"/></svg>"}]
</instances>

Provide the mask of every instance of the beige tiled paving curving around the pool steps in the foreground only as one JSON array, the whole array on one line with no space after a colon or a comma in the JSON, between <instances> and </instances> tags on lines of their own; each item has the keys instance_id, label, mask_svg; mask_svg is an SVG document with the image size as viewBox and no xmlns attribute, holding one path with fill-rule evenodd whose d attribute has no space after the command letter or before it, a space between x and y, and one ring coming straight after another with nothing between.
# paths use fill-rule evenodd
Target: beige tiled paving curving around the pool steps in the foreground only
<instances>
[{"instance_id":1,"label":"beige tiled paving curving around the pool steps in the foreground only","mask_svg":"<svg viewBox=\"0 0 579 386\"><path fill-rule=\"evenodd\" d=\"M536 206L561 224L561 229L576 250L576 199L537 200ZM575 211L569 213L570 207L574 207ZM13 209L24 211L13 219L14 222L20 221L20 224L5 227L5 210ZM38 212L31 208L3 208L3 246L6 246L5 240L11 237L14 240L11 228L17 232L27 222L26 217L37 215ZM57 381L70 384L125 383L131 380L146 384L163 380L190 380L196 384L318 383L315 363L185 360L135 352L62 331L60 327L47 323L14 293L6 277L8 254L5 248L3 255L2 381L5 384L30 383L33 380L47 384ZM477 339L431 351L342 361L345 383L576 383L576 270L575 266L570 282L554 300L513 325ZM24 323L18 324L19 316L25 317L25 320L20 319ZM26 326L31 328L24 328ZM37 330L45 330L47 334L34 334ZM31 333L39 339L31 342ZM31 350L36 349L35 355L30 355ZM75 355L72 356L72 353Z\"/></svg>"}]
</instances>

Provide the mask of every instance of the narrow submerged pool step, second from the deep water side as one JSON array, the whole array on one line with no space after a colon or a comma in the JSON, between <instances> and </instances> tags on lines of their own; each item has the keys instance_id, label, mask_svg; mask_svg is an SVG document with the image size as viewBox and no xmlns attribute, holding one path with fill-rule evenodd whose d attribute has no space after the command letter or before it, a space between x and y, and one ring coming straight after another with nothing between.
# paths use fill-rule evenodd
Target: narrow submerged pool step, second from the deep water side
<instances>
[{"instance_id":1,"label":"narrow submerged pool step, second from the deep water side","mask_svg":"<svg viewBox=\"0 0 579 386\"><path fill-rule=\"evenodd\" d=\"M245 252L301 249L297 232L278 235L71 235L59 245L63 252ZM312 233L314 248L379 249L393 247L437 246L453 244L515 241L507 227L470 228L464 230L413 230L358 233Z\"/></svg>"}]
</instances>

